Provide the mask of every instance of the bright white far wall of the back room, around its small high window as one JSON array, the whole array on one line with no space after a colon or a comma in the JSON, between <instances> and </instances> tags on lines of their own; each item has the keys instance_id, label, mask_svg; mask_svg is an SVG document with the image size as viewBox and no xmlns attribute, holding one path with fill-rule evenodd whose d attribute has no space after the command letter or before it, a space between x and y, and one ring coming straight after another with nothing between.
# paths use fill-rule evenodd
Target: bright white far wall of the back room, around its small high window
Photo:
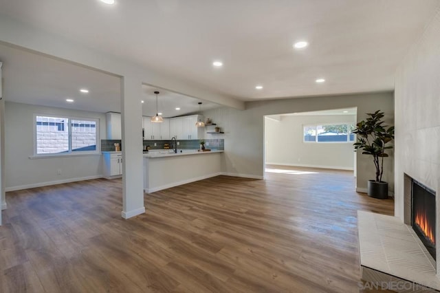
<instances>
[{"instance_id":1,"label":"bright white far wall of the back room, around its small high window","mask_svg":"<svg viewBox=\"0 0 440 293\"><path fill-rule=\"evenodd\" d=\"M354 115L281 116L265 118L266 164L353 170L353 143L303 142L303 125L355 123Z\"/></svg>"}]
</instances>

